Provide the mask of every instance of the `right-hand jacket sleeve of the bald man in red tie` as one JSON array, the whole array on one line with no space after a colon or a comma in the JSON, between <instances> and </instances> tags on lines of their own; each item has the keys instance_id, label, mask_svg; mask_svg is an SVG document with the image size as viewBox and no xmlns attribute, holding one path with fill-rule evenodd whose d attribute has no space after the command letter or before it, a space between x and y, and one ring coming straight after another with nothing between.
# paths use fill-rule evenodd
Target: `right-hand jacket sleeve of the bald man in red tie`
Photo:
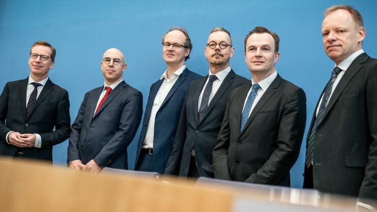
<instances>
[{"instance_id":1,"label":"right-hand jacket sleeve of the bald man in red tie","mask_svg":"<svg viewBox=\"0 0 377 212\"><path fill-rule=\"evenodd\" d=\"M143 95L140 91L132 93L124 104L117 132L94 157L94 161L101 167L107 162L114 161L124 151L135 136L143 115Z\"/></svg>"}]
</instances>

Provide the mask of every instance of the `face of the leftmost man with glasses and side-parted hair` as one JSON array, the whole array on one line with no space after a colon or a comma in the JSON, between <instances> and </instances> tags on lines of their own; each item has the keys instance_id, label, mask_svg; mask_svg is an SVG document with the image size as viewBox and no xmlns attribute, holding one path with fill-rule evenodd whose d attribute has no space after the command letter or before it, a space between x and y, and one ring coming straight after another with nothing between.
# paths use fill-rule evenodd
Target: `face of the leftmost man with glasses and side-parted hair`
<instances>
[{"instance_id":1,"label":"face of the leftmost man with glasses and side-parted hair","mask_svg":"<svg viewBox=\"0 0 377 212\"><path fill-rule=\"evenodd\" d=\"M36 45L31 50L32 54L45 55L51 57L51 49L48 46ZM46 61L41 61L41 57L38 56L37 59L32 59L29 57L29 69L30 75L34 80L44 80L48 76L48 71L52 69L53 62L51 58L48 58Z\"/></svg>"}]
</instances>

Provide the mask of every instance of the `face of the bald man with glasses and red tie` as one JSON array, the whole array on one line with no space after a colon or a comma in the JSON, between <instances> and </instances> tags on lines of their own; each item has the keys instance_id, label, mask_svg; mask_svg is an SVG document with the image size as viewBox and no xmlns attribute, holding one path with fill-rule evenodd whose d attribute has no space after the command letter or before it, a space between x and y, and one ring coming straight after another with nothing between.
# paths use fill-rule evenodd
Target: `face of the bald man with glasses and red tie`
<instances>
[{"instance_id":1,"label":"face of the bald man with glasses and red tie","mask_svg":"<svg viewBox=\"0 0 377 212\"><path fill-rule=\"evenodd\" d=\"M103 58L109 58L111 60L109 64L105 64L103 60L101 61L101 69L105 83L110 86L122 78L123 71L126 70L127 64L124 62L122 52L116 48L105 51ZM118 65L114 65L114 59L120 59L122 62Z\"/></svg>"}]
</instances>

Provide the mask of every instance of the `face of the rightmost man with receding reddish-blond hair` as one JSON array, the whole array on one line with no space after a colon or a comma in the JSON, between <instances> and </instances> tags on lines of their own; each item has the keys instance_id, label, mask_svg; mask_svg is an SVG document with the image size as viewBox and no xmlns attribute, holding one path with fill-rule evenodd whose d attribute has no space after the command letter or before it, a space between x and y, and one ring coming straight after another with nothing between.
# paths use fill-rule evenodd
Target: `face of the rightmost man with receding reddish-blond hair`
<instances>
[{"instance_id":1,"label":"face of the rightmost man with receding reddish-blond hair","mask_svg":"<svg viewBox=\"0 0 377 212\"><path fill-rule=\"evenodd\" d=\"M326 54L337 65L361 49L365 29L346 10L328 14L322 22L322 41Z\"/></svg>"}]
</instances>

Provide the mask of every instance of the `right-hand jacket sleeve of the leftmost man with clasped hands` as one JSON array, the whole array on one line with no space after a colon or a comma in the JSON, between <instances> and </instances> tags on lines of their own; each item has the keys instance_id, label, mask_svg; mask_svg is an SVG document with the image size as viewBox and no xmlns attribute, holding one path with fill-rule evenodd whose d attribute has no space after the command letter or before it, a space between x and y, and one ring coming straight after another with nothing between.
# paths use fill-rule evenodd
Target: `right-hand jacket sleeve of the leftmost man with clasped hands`
<instances>
[{"instance_id":1,"label":"right-hand jacket sleeve of the leftmost man with clasped hands","mask_svg":"<svg viewBox=\"0 0 377 212\"><path fill-rule=\"evenodd\" d=\"M58 102L55 130L50 133L39 134L42 139L41 147L53 146L67 140L70 133L71 118L69 116L69 97L64 90Z\"/></svg>"}]
</instances>

